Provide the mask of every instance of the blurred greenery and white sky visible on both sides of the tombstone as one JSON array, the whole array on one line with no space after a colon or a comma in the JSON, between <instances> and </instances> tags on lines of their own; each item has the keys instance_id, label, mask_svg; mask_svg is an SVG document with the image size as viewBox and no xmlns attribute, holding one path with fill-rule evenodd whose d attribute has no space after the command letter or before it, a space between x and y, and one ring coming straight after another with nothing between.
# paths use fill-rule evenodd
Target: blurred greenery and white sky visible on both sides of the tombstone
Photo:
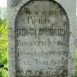
<instances>
[{"instance_id":1,"label":"blurred greenery and white sky visible on both sides of the tombstone","mask_svg":"<svg viewBox=\"0 0 77 77\"><path fill-rule=\"evenodd\" d=\"M76 11L77 11L77 8L76 8ZM76 22L77 22L77 13L76 13ZM7 42L7 0L0 0L0 77L8 76L7 44L8 44ZM75 77L77 77L77 29L76 29Z\"/></svg>"}]
</instances>

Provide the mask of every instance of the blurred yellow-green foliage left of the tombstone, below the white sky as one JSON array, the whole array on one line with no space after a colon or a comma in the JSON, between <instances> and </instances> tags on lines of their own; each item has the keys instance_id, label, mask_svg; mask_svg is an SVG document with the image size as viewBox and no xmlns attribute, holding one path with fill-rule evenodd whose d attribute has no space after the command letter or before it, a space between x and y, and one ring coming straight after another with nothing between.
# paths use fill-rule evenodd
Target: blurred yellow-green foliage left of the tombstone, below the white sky
<instances>
[{"instance_id":1,"label":"blurred yellow-green foliage left of the tombstone, below the white sky","mask_svg":"<svg viewBox=\"0 0 77 77\"><path fill-rule=\"evenodd\" d=\"M6 9L0 8L0 77L7 77L8 74L6 29Z\"/></svg>"}]
</instances>

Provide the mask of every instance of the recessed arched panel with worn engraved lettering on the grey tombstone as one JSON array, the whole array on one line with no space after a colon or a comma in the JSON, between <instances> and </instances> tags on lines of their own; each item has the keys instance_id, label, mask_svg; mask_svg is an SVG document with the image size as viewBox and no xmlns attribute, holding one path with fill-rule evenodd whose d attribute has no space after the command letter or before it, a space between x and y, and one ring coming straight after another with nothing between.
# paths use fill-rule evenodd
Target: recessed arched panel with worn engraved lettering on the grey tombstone
<instances>
[{"instance_id":1,"label":"recessed arched panel with worn engraved lettering on the grey tombstone","mask_svg":"<svg viewBox=\"0 0 77 77\"><path fill-rule=\"evenodd\" d=\"M55 1L30 1L15 22L16 77L68 77L69 21Z\"/></svg>"}]
</instances>

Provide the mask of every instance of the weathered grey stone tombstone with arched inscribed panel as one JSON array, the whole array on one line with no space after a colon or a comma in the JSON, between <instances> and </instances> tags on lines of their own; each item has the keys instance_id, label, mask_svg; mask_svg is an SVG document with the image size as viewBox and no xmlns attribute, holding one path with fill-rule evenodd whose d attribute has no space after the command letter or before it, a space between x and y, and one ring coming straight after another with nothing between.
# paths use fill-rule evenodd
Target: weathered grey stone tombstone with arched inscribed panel
<instances>
[{"instance_id":1,"label":"weathered grey stone tombstone with arched inscribed panel","mask_svg":"<svg viewBox=\"0 0 77 77\"><path fill-rule=\"evenodd\" d=\"M74 77L75 0L8 0L9 77Z\"/></svg>"}]
</instances>

